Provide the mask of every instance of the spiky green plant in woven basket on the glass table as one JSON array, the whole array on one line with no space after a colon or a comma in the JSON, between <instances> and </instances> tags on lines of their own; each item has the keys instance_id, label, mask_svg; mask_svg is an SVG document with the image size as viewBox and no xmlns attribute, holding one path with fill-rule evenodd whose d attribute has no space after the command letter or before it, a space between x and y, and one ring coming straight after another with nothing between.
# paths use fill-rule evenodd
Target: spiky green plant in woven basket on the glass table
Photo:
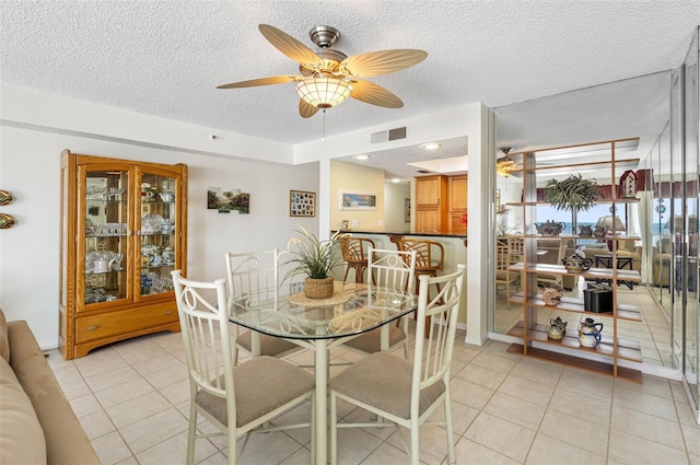
<instances>
[{"instance_id":1,"label":"spiky green plant in woven basket on the glass table","mask_svg":"<svg viewBox=\"0 0 700 465\"><path fill-rule=\"evenodd\" d=\"M301 236L289 240L287 248L291 258L284 265L293 265L284 279L295 275L306 275L304 295L308 299L328 299L332 295L332 269L342 263L338 252L339 232L322 241L303 226L298 231Z\"/></svg>"}]
</instances>

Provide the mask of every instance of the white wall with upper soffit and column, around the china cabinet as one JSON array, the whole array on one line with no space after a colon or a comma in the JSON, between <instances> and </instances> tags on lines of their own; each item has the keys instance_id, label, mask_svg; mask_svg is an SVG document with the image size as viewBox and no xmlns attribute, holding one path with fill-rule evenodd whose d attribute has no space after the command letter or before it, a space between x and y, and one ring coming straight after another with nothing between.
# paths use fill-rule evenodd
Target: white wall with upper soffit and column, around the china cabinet
<instances>
[{"instance_id":1,"label":"white wall with upper soffit and column, around the china cabinet","mask_svg":"<svg viewBox=\"0 0 700 465\"><path fill-rule=\"evenodd\" d=\"M57 346L58 334L58 194L59 154L77 153L187 163L189 170L188 269L191 277L223 276L224 251L285 246L298 222L328 234L330 221L330 159L366 151L370 132L401 125L408 137L393 147L467 136L470 160L469 240L471 264L467 338L486 339L488 292L482 269L488 260L480 236L489 234L488 181L471 175L486 159L486 107L471 104L439 114L394 121L362 133L329 138L294 147L234 132L139 115L0 84L0 188L18 200L0 208L18 224L0 231L0 306L9 319L27 319L44 348ZM215 132L218 138L209 136ZM386 147L386 146L384 146ZM377 149L377 147L373 147ZM381 149L381 148L380 148ZM259 161L270 162L264 164ZM277 163L277 164L271 164ZM298 166L290 166L296 163ZM481 177L485 177L482 175ZM235 187L250 194L250 214L219 214L206 209L208 186ZM482 189L486 186L486 189ZM298 221L288 216L289 190L317 193L316 218ZM491 189L492 190L492 189ZM486 194L485 194L486 193ZM492 197L492 196L491 196ZM492 200L491 200L492 201ZM480 228L472 221L479 220ZM471 247L476 245L476 247ZM460 253L458 254L460 255ZM465 254L460 263L466 261ZM469 334L471 333L471 334Z\"/></svg>"}]
</instances>

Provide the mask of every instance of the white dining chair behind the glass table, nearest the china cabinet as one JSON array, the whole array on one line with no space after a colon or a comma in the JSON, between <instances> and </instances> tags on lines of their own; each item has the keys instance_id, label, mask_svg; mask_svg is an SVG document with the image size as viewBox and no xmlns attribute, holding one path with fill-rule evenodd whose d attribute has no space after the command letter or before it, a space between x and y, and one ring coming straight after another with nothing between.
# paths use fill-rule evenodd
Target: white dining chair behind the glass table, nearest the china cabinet
<instances>
[{"instance_id":1,"label":"white dining chair behind the glass table, nearest the china cabinet","mask_svg":"<svg viewBox=\"0 0 700 465\"><path fill-rule=\"evenodd\" d=\"M273 248L266 252L226 252L226 283L229 299L247 301L249 304L272 301L277 307L280 290L280 257L287 251ZM237 329L235 329L237 330ZM236 337L234 362L238 362L237 348L253 357L270 356L282 358L303 348L279 337L254 330L243 330Z\"/></svg>"}]
</instances>

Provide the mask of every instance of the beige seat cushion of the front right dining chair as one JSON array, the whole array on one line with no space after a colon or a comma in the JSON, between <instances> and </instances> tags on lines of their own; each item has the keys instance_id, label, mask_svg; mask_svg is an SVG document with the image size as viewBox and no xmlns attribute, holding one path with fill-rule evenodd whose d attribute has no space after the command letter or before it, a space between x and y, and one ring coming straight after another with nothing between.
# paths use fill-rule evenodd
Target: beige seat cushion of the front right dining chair
<instances>
[{"instance_id":1,"label":"beige seat cushion of the front right dining chair","mask_svg":"<svg viewBox=\"0 0 700 465\"><path fill-rule=\"evenodd\" d=\"M408 419L411 405L411 363L386 352L373 353L330 380L328 387L348 397ZM419 415L445 392L441 381L420 393Z\"/></svg>"}]
</instances>

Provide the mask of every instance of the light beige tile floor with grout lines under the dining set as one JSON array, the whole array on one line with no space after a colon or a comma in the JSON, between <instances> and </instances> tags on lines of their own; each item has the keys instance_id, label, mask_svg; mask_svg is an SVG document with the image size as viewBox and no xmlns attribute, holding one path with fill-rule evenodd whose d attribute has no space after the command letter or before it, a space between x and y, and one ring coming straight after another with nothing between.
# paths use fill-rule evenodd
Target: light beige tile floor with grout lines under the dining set
<instances>
[{"instance_id":1,"label":"light beige tile floor with grout lines under the dining set","mask_svg":"<svg viewBox=\"0 0 700 465\"><path fill-rule=\"evenodd\" d=\"M700 465L700 426L679 382L645 375L639 385L511 354L504 342L476 347L463 340L458 334L451 384L458 464ZM189 388L183 354L182 336L170 333L72 361L50 351L48 361L103 464L185 463ZM331 353L334 360L358 357ZM289 360L305 364L311 353ZM308 411L305 405L288 415ZM339 414L368 416L347 404ZM256 434L240 463L308 464L308 430ZM408 463L392 428L340 430L339 450L340 464ZM198 440L196 462L224 464L226 452L221 438ZM421 430L420 458L446 463L444 429Z\"/></svg>"}]
</instances>

